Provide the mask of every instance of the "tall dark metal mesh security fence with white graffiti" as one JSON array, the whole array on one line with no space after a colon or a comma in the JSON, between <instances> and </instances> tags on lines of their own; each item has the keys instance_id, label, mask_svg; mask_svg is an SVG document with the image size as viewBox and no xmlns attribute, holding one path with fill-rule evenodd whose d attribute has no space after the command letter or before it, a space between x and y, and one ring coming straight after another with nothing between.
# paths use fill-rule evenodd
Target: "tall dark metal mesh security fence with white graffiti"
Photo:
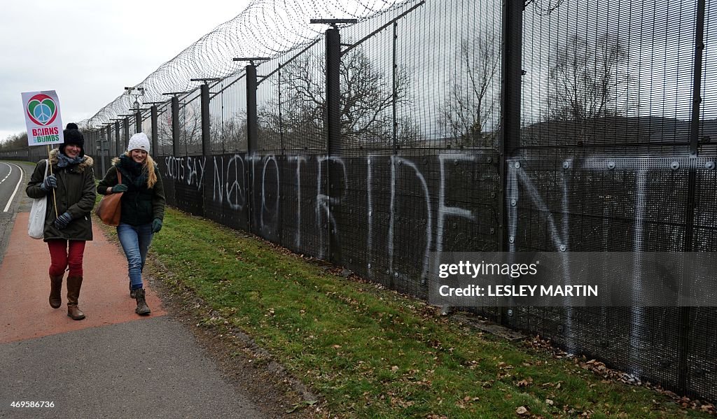
<instances>
[{"instance_id":1,"label":"tall dark metal mesh security fence with white graffiti","mask_svg":"<svg viewBox=\"0 0 717 419\"><path fill-rule=\"evenodd\" d=\"M716 13L409 1L95 117L87 145L106 168L143 130L171 205L424 299L435 251L716 251ZM714 308L473 310L717 400Z\"/></svg>"}]
</instances>

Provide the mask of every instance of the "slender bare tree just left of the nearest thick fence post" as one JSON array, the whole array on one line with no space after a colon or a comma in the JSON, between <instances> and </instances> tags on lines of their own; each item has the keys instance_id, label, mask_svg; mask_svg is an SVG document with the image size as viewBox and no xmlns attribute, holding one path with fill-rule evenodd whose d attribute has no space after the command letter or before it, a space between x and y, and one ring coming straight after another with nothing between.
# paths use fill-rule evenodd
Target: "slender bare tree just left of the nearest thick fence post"
<instances>
[{"instance_id":1,"label":"slender bare tree just left of the nearest thick fence post","mask_svg":"<svg viewBox=\"0 0 717 419\"><path fill-rule=\"evenodd\" d=\"M457 145L492 145L487 128L495 111L492 87L499 68L494 46L493 36L460 42L459 80L453 82L439 119Z\"/></svg>"}]
</instances>

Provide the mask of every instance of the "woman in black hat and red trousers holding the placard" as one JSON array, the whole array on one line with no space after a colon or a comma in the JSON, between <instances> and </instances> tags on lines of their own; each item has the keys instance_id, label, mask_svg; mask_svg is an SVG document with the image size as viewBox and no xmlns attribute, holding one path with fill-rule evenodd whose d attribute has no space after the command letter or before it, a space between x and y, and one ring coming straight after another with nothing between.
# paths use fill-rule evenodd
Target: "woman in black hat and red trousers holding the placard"
<instances>
[{"instance_id":1,"label":"woman in black hat and red trousers holding the placard","mask_svg":"<svg viewBox=\"0 0 717 419\"><path fill-rule=\"evenodd\" d=\"M48 198L44 241L50 255L49 305L54 309L62 305L62 279L69 266L67 315L82 320L85 313L77 307L77 300L82 287L85 242L92 240L90 211L95 206L96 196L94 162L85 155L85 137L76 124L70 122L62 133L65 143L50 151L49 160L37 163L25 193L30 198ZM44 177L47 161L52 165L52 174Z\"/></svg>"}]
</instances>

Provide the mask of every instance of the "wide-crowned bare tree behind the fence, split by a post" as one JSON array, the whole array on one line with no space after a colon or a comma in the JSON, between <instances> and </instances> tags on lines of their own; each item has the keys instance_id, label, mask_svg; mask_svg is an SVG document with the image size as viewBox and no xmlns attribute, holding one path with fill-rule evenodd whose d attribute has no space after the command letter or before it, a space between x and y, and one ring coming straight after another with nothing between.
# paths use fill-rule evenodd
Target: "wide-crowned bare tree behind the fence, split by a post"
<instances>
[{"instance_id":1,"label":"wide-crowned bare tree behind the fence, split by a post","mask_svg":"<svg viewBox=\"0 0 717 419\"><path fill-rule=\"evenodd\" d=\"M398 71L394 83L376 69L369 57L354 48L341 58L341 133L349 141L391 145L391 107L407 96L408 77ZM276 82L281 104L272 102L259 111L266 135L281 134L285 148L305 148L306 140L323 138L326 104L326 63L323 56L306 53L290 62ZM279 112L280 111L280 112ZM408 126L413 126L407 123ZM409 131L407 130L407 133ZM416 132L410 135L419 135Z\"/></svg>"}]
</instances>

